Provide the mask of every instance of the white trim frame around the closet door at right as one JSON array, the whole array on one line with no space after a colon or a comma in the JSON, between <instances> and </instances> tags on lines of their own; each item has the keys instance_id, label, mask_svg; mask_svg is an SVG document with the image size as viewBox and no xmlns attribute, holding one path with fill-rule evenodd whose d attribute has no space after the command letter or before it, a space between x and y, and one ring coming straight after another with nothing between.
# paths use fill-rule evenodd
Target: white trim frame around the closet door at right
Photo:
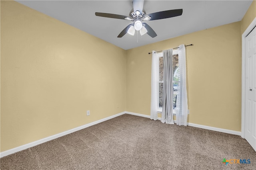
<instances>
[{"instance_id":1,"label":"white trim frame around the closet door at right","mask_svg":"<svg viewBox=\"0 0 256 170\"><path fill-rule=\"evenodd\" d=\"M245 93L246 93L246 36L256 26L256 18L250 23L247 29L242 34L242 110L241 110L241 137L245 136Z\"/></svg>"}]
</instances>

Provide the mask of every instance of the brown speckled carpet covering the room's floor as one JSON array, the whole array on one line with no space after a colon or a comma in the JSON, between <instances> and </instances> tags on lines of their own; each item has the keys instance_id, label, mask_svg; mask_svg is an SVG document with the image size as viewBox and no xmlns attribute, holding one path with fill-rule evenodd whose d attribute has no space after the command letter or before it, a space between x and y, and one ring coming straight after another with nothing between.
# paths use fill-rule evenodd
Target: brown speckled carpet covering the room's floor
<instances>
[{"instance_id":1,"label":"brown speckled carpet covering the room's floor","mask_svg":"<svg viewBox=\"0 0 256 170\"><path fill-rule=\"evenodd\" d=\"M250 164L225 165L223 158ZM255 170L256 152L237 135L124 114L0 163L1 170Z\"/></svg>"}]
</instances>

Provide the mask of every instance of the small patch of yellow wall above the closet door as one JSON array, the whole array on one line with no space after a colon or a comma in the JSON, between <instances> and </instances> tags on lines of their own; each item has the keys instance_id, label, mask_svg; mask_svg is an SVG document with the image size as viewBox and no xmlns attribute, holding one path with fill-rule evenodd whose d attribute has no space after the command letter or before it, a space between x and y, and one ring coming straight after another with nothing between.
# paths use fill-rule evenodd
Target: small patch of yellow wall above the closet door
<instances>
[{"instance_id":1,"label":"small patch of yellow wall above the closet door","mask_svg":"<svg viewBox=\"0 0 256 170\"><path fill-rule=\"evenodd\" d=\"M243 34L246 28L250 25L252 20L256 18L256 0L252 2L250 7L248 8L246 14L244 15L244 18L241 21L241 33Z\"/></svg>"}]
</instances>

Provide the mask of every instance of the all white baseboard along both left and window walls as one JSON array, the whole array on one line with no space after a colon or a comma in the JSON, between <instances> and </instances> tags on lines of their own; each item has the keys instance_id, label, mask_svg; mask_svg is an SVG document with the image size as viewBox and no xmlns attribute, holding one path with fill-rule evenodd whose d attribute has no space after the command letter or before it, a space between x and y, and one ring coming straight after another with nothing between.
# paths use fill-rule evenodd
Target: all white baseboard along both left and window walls
<instances>
[{"instance_id":1,"label":"all white baseboard along both left and window walls","mask_svg":"<svg viewBox=\"0 0 256 170\"><path fill-rule=\"evenodd\" d=\"M15 152L19 152L21 150L24 150L24 149L28 149L30 147L34 147L36 145L39 145L41 143L44 143L44 142L47 142L47 141L50 141L50 140L53 140L53 139L56 139L58 137L62 137L64 135L68 135L70 133L73 133L75 131L79 131L81 129L84 129L86 127L90 127L92 125L96 125L98 123L101 123L103 121L106 121L106 120L109 120L109 119L112 119L114 117L117 117L117 116L120 116L120 115L123 115L123 114L130 114L130 115L136 115L136 116L140 116L140 117L146 117L146 118L150 118L150 115L144 115L144 114L139 114L139 113L133 113L133 112L129 112L129 111L124 111L124 112L121 112L121 113L118 113L116 115L112 115L110 117L106 117L104 119L100 119L98 121L94 121L92 123L88 123L86 125L82 125L80 127L76 127L74 129L70 129L68 131L65 131L65 132L62 132L62 133L58 133L56 135L52 135L50 137L46 137L44 139L40 139L38 141L34 141L34 142L31 142L31 143L28 143L26 145L22 145L20 147L16 147L16 148L13 148L13 149L10 149L10 150L6 150L4 152L1 152L0 153L0 158L4 157L4 156L7 156L9 154L13 154ZM158 117L158 120L161 120L161 117ZM176 121L174 121L174 123L176 123ZM188 126L193 126L193 127L199 127L199 128L202 128L202 129L208 129L208 130L212 130L212 131L218 131L218 132L224 132L224 133L230 133L230 134L234 134L234 135L241 135L241 132L239 131L232 131L232 130L228 130L228 129L220 129L220 128L217 128L217 127L210 127L210 126L205 126L205 125L198 125L198 124L194 124L194 123L188 123Z\"/></svg>"}]
</instances>

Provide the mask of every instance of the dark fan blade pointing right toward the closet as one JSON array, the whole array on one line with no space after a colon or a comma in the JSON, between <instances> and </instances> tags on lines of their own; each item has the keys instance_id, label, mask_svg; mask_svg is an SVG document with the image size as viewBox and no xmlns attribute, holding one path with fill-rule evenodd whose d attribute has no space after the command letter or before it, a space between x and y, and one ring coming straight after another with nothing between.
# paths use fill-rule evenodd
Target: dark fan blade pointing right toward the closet
<instances>
[{"instance_id":1,"label":"dark fan blade pointing right toward the closet","mask_svg":"<svg viewBox=\"0 0 256 170\"><path fill-rule=\"evenodd\" d=\"M160 20L160 19L164 19L164 18L172 18L172 17L176 17L176 16L181 16L182 11L183 11L182 9L161 11L161 12L155 12L152 14L148 14L147 16L151 17L150 21Z\"/></svg>"}]
</instances>

